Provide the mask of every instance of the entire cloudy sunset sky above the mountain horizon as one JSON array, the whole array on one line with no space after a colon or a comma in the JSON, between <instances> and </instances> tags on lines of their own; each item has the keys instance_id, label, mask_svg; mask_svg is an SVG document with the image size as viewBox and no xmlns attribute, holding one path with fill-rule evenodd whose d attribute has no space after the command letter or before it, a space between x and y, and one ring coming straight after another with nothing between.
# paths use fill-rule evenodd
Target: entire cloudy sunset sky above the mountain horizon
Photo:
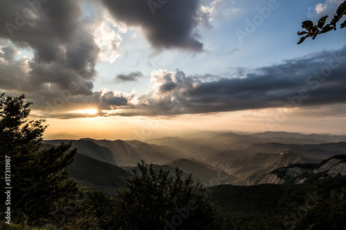
<instances>
[{"instance_id":1,"label":"entire cloudy sunset sky above the mountain horizon","mask_svg":"<svg viewBox=\"0 0 346 230\"><path fill-rule=\"evenodd\" d=\"M46 139L346 134L346 30L297 44L341 2L0 0L0 92Z\"/></svg>"}]
</instances>

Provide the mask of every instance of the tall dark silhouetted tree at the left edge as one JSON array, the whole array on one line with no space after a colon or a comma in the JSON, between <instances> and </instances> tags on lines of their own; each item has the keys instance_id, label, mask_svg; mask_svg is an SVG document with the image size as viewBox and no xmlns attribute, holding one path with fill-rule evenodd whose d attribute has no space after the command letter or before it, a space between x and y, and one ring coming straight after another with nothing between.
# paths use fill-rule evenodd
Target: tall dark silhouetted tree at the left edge
<instances>
[{"instance_id":1,"label":"tall dark silhouetted tree at the left edge","mask_svg":"<svg viewBox=\"0 0 346 230\"><path fill-rule=\"evenodd\" d=\"M8 206L12 218L21 213L25 222L35 223L51 218L55 204L77 191L66 171L76 149L69 151L71 143L42 148L45 120L28 121L32 103L24 103L24 99L24 95L0 95L0 162L10 163L7 169L1 165L0 173L1 180L8 174L6 186L12 187ZM2 201L6 200L5 195L1 192Z\"/></svg>"}]
</instances>

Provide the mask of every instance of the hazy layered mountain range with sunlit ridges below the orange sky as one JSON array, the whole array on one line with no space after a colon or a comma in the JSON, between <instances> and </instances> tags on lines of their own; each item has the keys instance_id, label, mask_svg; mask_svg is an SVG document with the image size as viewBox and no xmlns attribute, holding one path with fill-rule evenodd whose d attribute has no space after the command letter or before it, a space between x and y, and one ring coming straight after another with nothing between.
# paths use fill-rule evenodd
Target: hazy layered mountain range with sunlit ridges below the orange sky
<instances>
[{"instance_id":1,"label":"hazy layered mountain range with sunlit ridges below the orange sky","mask_svg":"<svg viewBox=\"0 0 346 230\"><path fill-rule=\"evenodd\" d=\"M44 140L44 148L60 142L72 142L78 148L69 166L71 177L95 190L115 193L125 186L125 178L138 172L138 162L144 160L154 169L176 167L183 178L192 173L194 180L206 186L217 184L249 185L273 182L275 172L286 170L306 172L334 155L346 154L346 136L265 133L184 133L181 137L145 140ZM309 168L310 169L310 168ZM275 171L276 170L276 171ZM268 174L269 173L269 174ZM280 174L280 173L279 173ZM281 174L280 174L281 175ZM270 180L266 178L271 177ZM282 178L280 178L282 179Z\"/></svg>"}]
</instances>

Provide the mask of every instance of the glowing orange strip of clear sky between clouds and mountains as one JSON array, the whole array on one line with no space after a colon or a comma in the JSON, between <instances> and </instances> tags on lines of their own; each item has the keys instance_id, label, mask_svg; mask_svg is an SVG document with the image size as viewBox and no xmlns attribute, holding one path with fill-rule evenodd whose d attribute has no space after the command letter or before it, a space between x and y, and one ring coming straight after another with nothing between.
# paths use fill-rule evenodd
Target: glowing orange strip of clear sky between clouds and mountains
<instances>
[{"instance_id":1,"label":"glowing orange strip of clear sky between clouds and mountains","mask_svg":"<svg viewBox=\"0 0 346 230\"><path fill-rule=\"evenodd\" d=\"M76 119L48 118L45 139L91 137L107 140L146 140L174 136L187 131L288 131L298 133L346 134L346 117L314 116L295 108L280 113L280 108L226 113L178 115L174 117L90 117ZM286 116L284 115L286 114Z\"/></svg>"}]
</instances>

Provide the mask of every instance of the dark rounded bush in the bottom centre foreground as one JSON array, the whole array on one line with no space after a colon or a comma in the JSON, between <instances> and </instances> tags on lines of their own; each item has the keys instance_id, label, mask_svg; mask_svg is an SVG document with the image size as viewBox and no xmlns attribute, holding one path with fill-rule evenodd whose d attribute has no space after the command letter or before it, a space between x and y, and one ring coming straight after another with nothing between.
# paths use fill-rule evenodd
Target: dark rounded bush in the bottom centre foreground
<instances>
[{"instance_id":1,"label":"dark rounded bush in the bottom centre foreground","mask_svg":"<svg viewBox=\"0 0 346 230\"><path fill-rule=\"evenodd\" d=\"M218 229L210 195L191 175L183 180L176 168L176 178L169 171L153 169L142 161L140 175L134 171L126 189L118 193L113 211L117 229Z\"/></svg>"}]
</instances>

